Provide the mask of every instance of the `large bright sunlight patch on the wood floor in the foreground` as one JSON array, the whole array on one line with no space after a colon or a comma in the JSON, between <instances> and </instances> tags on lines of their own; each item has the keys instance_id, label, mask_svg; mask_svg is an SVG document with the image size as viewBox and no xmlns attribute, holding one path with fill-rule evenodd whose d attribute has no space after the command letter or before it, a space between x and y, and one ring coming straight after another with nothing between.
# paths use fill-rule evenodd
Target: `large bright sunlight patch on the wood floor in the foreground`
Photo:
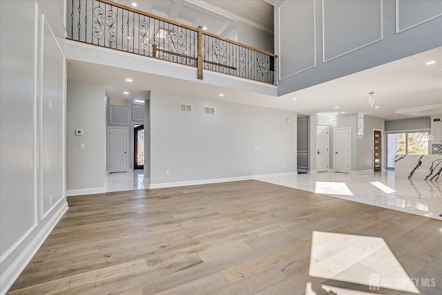
<instances>
[{"instance_id":1,"label":"large bright sunlight patch on the wood floor in the foreground","mask_svg":"<svg viewBox=\"0 0 442 295\"><path fill-rule=\"evenodd\" d=\"M309 275L365 285L367 292L380 287L421 294L385 240L372 236L313 231Z\"/></svg>"}]
</instances>

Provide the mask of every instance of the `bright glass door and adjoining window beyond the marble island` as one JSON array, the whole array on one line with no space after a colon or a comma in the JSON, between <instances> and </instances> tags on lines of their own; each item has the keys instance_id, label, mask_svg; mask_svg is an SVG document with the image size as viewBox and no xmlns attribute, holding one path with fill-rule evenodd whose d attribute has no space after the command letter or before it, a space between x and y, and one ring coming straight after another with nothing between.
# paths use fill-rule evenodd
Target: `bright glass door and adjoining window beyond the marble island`
<instances>
[{"instance_id":1,"label":"bright glass door and adjoining window beyond the marble island","mask_svg":"<svg viewBox=\"0 0 442 295\"><path fill-rule=\"evenodd\" d=\"M394 155L428 155L428 142L421 142L423 132L387 134L387 168L394 168Z\"/></svg>"}]
</instances>

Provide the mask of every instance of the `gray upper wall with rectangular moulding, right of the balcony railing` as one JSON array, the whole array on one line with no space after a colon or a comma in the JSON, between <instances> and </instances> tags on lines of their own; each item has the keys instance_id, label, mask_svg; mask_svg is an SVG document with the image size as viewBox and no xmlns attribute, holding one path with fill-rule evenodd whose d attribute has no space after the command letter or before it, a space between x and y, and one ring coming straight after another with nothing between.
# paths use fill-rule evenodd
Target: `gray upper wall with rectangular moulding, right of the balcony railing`
<instances>
[{"instance_id":1,"label":"gray upper wall with rectangular moulding, right of the balcony railing","mask_svg":"<svg viewBox=\"0 0 442 295\"><path fill-rule=\"evenodd\" d=\"M429 0L279 1L278 94L442 46L441 13Z\"/></svg>"}]
</instances>

